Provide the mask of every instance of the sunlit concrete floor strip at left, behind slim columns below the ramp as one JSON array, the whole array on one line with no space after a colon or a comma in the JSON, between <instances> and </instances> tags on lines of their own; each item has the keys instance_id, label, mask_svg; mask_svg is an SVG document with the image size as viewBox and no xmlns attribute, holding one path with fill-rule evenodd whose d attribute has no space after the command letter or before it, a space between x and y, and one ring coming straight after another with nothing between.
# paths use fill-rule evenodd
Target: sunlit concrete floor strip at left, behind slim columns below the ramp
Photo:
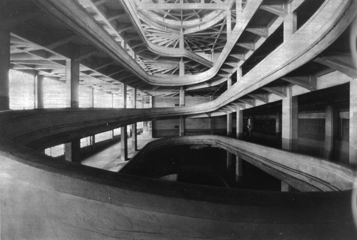
<instances>
[{"instance_id":1,"label":"sunlit concrete floor strip at left, behind slim columns below the ramp","mask_svg":"<svg viewBox=\"0 0 357 240\"><path fill-rule=\"evenodd\" d=\"M144 135L138 134L138 149L140 150L148 142L156 140L151 137L144 137ZM127 139L127 157L131 159L138 151L132 150L132 138ZM101 168L113 172L119 171L127 161L121 161L120 159L121 147L120 141L114 143L113 145L99 151L85 159L82 160L83 165Z\"/></svg>"}]
</instances>

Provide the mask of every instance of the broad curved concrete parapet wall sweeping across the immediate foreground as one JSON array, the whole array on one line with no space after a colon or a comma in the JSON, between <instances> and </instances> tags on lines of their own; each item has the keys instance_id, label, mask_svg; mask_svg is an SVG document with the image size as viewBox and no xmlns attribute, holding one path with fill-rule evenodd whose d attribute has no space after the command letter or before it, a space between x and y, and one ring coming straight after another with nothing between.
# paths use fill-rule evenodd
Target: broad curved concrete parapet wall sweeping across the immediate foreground
<instances>
[{"instance_id":1,"label":"broad curved concrete parapet wall sweeping across the immediate foreground","mask_svg":"<svg viewBox=\"0 0 357 240\"><path fill-rule=\"evenodd\" d=\"M0 146L4 239L354 239L351 191L162 182Z\"/></svg>"}]
</instances>

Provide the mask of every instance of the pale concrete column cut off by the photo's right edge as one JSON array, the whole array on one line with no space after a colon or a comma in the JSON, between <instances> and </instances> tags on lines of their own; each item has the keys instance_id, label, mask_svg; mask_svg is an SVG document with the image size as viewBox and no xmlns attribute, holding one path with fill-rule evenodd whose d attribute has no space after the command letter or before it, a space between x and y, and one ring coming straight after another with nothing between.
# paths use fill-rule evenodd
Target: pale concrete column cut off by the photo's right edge
<instances>
[{"instance_id":1,"label":"pale concrete column cut off by the photo's right edge","mask_svg":"<svg viewBox=\"0 0 357 240\"><path fill-rule=\"evenodd\" d=\"M357 166L357 79L349 82L349 164Z\"/></svg>"}]
</instances>

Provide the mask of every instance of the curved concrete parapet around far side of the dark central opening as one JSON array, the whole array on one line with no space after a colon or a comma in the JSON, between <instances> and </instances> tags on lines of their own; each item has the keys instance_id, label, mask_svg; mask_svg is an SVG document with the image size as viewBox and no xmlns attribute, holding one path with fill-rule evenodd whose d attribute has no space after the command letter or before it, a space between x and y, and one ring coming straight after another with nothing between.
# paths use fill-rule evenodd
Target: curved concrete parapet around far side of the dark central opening
<instances>
[{"instance_id":1,"label":"curved concrete parapet around far side of the dark central opening","mask_svg":"<svg viewBox=\"0 0 357 240\"><path fill-rule=\"evenodd\" d=\"M355 178L357 171L352 170L351 167L217 135L165 138L150 142L120 172L135 172L135 166L144 161L144 156L151 151L185 144L209 144L221 147L300 191L348 190L357 183Z\"/></svg>"}]
</instances>

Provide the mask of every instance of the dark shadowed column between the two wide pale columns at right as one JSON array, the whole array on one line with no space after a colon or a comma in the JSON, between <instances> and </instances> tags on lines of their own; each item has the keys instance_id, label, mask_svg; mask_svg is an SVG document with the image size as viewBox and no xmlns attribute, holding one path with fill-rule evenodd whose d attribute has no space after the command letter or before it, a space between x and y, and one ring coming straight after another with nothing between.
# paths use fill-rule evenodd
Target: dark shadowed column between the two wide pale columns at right
<instances>
[{"instance_id":1,"label":"dark shadowed column between the two wide pale columns at right","mask_svg":"<svg viewBox=\"0 0 357 240\"><path fill-rule=\"evenodd\" d=\"M331 159L334 151L334 139L337 135L339 115L334 106L325 108L325 152L324 158Z\"/></svg>"}]
</instances>

